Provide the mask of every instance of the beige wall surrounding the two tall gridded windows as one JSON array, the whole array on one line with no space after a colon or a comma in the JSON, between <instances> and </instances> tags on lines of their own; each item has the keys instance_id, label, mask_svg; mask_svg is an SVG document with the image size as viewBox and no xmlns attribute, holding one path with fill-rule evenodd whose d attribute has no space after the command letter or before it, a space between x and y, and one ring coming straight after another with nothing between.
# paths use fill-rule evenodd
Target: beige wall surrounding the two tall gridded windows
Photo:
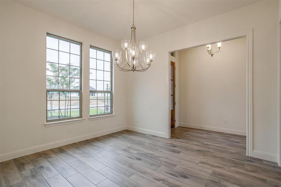
<instances>
[{"instance_id":1,"label":"beige wall surrounding the two tall gridded windows","mask_svg":"<svg viewBox=\"0 0 281 187\"><path fill-rule=\"evenodd\" d=\"M84 122L45 127L46 32L82 42ZM48 16L12 1L1 1L0 155L39 146L48 149L88 139L92 133L126 128L126 74L114 66L115 117L89 121L89 47L120 49L119 41ZM71 132L67 132L71 127ZM119 128L120 127L120 128ZM106 132L103 132L106 133ZM90 136L86 136L89 135ZM92 135L91 135L92 134ZM85 137L83 137L85 136ZM78 139L72 139L80 137ZM66 141L64 141L66 140ZM59 142L58 144L52 144ZM41 147L41 145L45 145ZM37 152L31 150L30 152ZM19 153L19 154L26 154ZM8 158L8 157L7 157Z\"/></svg>"}]
</instances>

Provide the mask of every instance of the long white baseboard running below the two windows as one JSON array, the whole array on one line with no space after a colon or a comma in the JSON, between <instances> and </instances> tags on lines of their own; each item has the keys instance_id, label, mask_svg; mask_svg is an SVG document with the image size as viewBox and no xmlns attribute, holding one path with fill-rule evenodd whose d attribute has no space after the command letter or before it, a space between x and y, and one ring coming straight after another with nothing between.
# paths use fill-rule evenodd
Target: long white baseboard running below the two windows
<instances>
[{"instance_id":1,"label":"long white baseboard running below the two windows","mask_svg":"<svg viewBox=\"0 0 281 187\"><path fill-rule=\"evenodd\" d=\"M29 148L21 149L18 151L12 151L12 152L0 155L0 162L14 159L14 158L17 158L20 156L29 155L29 154L36 153L39 151L44 151L47 149L64 146L64 145L75 143L78 141L83 141L83 140L87 140L90 138L103 136L103 135L110 134L113 132L123 131L126 129L127 129L127 126L116 127L116 128L112 128L112 129L105 130L105 131L94 132L94 133L77 136L77 137L73 137L73 138L68 138L68 139L64 139L64 140L60 140L60 141L55 141L55 142L51 142L51 143L47 143L47 144L43 144L43 145L39 145L39 146L29 147Z\"/></svg>"}]
</instances>

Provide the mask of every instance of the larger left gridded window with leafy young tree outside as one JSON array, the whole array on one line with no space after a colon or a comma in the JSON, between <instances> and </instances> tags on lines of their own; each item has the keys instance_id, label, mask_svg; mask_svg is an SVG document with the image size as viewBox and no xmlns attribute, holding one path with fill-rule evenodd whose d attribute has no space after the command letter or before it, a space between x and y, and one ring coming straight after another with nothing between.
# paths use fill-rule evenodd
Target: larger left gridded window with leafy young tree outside
<instances>
[{"instance_id":1,"label":"larger left gridded window with leafy young tree outside","mask_svg":"<svg viewBox=\"0 0 281 187\"><path fill-rule=\"evenodd\" d=\"M81 45L47 34L47 122L81 117Z\"/></svg>"}]
</instances>

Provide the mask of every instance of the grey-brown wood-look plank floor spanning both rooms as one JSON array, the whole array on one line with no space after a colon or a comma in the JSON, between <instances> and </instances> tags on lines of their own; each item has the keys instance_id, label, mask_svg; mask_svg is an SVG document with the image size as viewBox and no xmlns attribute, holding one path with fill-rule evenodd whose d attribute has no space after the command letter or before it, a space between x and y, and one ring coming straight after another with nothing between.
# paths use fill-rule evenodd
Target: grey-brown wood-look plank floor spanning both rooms
<instances>
[{"instance_id":1,"label":"grey-brown wood-look plank floor spanning both rooms","mask_svg":"<svg viewBox=\"0 0 281 187\"><path fill-rule=\"evenodd\" d=\"M0 187L281 187L277 163L245 154L245 136L125 130L1 162Z\"/></svg>"}]
</instances>

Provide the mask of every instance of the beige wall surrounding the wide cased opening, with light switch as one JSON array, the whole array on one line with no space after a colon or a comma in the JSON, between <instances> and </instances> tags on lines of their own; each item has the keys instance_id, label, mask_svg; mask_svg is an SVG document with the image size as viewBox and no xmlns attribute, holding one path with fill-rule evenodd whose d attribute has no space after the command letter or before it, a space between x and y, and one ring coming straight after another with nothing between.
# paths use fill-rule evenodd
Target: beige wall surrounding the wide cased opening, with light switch
<instances>
[{"instance_id":1,"label":"beige wall surrounding the wide cased opening, with light switch","mask_svg":"<svg viewBox=\"0 0 281 187\"><path fill-rule=\"evenodd\" d=\"M129 124L145 132L167 134L169 50L253 29L253 149L260 152L259 157L268 153L277 159L278 52L277 47L265 47L278 45L278 3L260 1L145 39L156 57L148 71L128 77L138 85L129 93L133 103ZM133 121L142 116L146 118Z\"/></svg>"}]
</instances>

